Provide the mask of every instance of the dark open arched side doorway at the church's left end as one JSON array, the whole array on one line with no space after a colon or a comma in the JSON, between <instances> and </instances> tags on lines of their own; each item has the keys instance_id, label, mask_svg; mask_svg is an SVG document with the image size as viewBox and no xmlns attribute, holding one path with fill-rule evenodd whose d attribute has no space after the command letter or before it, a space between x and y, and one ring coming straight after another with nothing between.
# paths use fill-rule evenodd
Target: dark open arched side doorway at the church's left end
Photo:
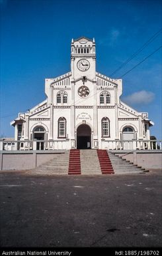
<instances>
[{"instance_id":1,"label":"dark open arched side doorway at the church's left end","mask_svg":"<svg viewBox=\"0 0 162 256\"><path fill-rule=\"evenodd\" d=\"M33 131L34 140L45 140L45 133L44 127L37 126ZM36 150L44 150L44 146L45 142L36 142Z\"/></svg>"}]
</instances>

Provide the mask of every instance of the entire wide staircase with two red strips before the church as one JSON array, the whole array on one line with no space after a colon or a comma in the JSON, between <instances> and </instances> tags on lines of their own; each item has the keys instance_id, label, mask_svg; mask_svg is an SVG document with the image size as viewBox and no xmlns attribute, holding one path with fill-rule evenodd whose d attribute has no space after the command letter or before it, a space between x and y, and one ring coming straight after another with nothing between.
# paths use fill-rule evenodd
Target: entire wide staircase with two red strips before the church
<instances>
[{"instance_id":1,"label":"entire wide staircase with two red strips before the church","mask_svg":"<svg viewBox=\"0 0 162 256\"><path fill-rule=\"evenodd\" d=\"M140 166L107 150L66 150L27 174L39 175L102 175L142 174L148 172Z\"/></svg>"}]
</instances>

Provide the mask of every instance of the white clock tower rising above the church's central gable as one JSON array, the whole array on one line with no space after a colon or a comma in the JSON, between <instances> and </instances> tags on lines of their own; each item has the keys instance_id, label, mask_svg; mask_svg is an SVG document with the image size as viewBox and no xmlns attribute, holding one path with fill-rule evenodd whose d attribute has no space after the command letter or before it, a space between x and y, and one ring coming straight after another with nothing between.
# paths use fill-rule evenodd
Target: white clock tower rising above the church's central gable
<instances>
[{"instance_id":1,"label":"white clock tower rising above the church's central gable","mask_svg":"<svg viewBox=\"0 0 162 256\"><path fill-rule=\"evenodd\" d=\"M95 39L80 37L71 41L71 74L73 80L96 76L96 49Z\"/></svg>"}]
</instances>

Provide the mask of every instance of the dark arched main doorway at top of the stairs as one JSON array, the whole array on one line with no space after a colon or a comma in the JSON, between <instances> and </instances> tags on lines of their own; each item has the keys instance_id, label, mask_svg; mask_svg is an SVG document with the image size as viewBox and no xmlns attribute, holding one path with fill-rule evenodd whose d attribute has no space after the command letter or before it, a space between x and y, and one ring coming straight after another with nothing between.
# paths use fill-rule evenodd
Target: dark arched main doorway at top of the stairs
<instances>
[{"instance_id":1,"label":"dark arched main doorway at top of the stairs","mask_svg":"<svg viewBox=\"0 0 162 256\"><path fill-rule=\"evenodd\" d=\"M85 150L91 148L91 128L87 124L81 124L77 128L77 148Z\"/></svg>"}]
</instances>

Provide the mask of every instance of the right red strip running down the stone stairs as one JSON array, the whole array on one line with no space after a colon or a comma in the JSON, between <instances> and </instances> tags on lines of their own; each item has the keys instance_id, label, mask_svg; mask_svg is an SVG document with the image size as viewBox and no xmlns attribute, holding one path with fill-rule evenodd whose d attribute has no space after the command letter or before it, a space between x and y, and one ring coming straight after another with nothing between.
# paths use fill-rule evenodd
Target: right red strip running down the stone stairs
<instances>
[{"instance_id":1,"label":"right red strip running down the stone stairs","mask_svg":"<svg viewBox=\"0 0 162 256\"><path fill-rule=\"evenodd\" d=\"M102 174L114 174L110 158L106 150L97 150Z\"/></svg>"}]
</instances>

